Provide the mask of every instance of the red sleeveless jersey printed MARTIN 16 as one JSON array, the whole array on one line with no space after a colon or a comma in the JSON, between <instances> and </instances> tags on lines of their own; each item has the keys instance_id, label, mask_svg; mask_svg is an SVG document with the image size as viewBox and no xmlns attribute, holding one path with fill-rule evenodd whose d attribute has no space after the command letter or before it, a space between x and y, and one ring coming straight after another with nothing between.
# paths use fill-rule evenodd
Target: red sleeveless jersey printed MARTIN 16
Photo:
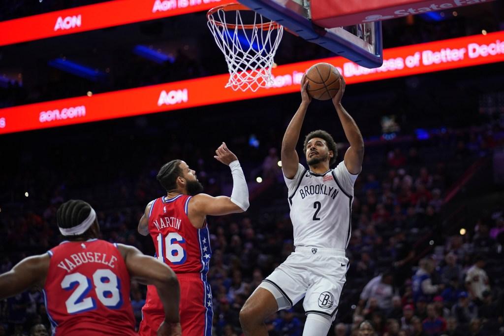
<instances>
[{"instance_id":1,"label":"red sleeveless jersey printed MARTIN 16","mask_svg":"<svg viewBox=\"0 0 504 336\"><path fill-rule=\"evenodd\" d=\"M149 212L149 233L156 248L156 256L175 273L206 273L212 251L205 225L195 228L187 217L192 196L178 195L154 200Z\"/></svg>"}]
</instances>

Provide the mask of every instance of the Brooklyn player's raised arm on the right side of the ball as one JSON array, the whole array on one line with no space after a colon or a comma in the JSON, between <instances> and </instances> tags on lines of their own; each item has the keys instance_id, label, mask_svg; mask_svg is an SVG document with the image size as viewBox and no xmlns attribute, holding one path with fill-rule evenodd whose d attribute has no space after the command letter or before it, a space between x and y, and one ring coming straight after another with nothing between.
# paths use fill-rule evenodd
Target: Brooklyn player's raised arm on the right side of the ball
<instances>
[{"instance_id":1,"label":"Brooklyn player's raised arm on the right side of the ball","mask_svg":"<svg viewBox=\"0 0 504 336\"><path fill-rule=\"evenodd\" d=\"M341 98L343 93L345 93L345 79L340 78L340 89L333 98L334 107L340 118L341 125L343 126L343 131L345 136L350 143L350 147L345 153L345 166L347 167L350 174L359 174L362 170L362 159L364 158L364 140L360 134L359 127L353 120L353 118L348 114L343 105L341 104Z\"/></svg>"}]
</instances>

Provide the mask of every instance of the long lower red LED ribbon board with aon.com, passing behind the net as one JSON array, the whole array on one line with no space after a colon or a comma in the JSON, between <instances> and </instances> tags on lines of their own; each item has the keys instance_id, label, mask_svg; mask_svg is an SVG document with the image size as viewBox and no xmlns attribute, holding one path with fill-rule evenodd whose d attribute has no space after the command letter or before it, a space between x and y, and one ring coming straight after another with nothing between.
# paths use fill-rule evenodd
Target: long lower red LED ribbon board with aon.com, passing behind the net
<instances>
[{"instance_id":1,"label":"long lower red LED ribbon board with aon.com, passing behind the net","mask_svg":"<svg viewBox=\"0 0 504 336\"><path fill-rule=\"evenodd\" d=\"M257 92L225 89L228 74L0 109L0 134L137 116L298 92L314 63L336 66L347 84L504 61L504 31L384 50L384 65L366 69L341 58L278 66L274 86Z\"/></svg>"}]
</instances>

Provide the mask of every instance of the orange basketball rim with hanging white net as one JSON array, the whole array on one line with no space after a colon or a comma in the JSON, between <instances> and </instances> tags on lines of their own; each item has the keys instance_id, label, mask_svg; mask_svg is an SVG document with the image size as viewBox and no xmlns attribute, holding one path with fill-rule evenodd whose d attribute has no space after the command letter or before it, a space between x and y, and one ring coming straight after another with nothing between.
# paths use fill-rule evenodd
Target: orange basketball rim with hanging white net
<instances>
[{"instance_id":1,"label":"orange basketball rim with hanging white net","mask_svg":"<svg viewBox=\"0 0 504 336\"><path fill-rule=\"evenodd\" d=\"M235 91L271 87L271 68L283 27L236 3L212 8L207 19L229 69L225 87Z\"/></svg>"}]
</instances>

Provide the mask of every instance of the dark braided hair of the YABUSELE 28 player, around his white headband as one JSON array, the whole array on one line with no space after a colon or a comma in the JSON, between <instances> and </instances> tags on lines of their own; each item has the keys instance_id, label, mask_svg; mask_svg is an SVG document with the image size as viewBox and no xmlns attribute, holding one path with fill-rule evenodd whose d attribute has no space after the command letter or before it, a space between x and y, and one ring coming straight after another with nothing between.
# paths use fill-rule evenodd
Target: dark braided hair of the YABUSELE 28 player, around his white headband
<instances>
[{"instance_id":1,"label":"dark braided hair of the YABUSELE 28 player, around his white headband","mask_svg":"<svg viewBox=\"0 0 504 336\"><path fill-rule=\"evenodd\" d=\"M56 211L56 223L61 229L70 229L80 225L91 212L91 205L80 199L71 199L61 204ZM90 228L91 229L91 228ZM65 236L65 239L74 240L90 236L88 229L82 235Z\"/></svg>"}]
</instances>

